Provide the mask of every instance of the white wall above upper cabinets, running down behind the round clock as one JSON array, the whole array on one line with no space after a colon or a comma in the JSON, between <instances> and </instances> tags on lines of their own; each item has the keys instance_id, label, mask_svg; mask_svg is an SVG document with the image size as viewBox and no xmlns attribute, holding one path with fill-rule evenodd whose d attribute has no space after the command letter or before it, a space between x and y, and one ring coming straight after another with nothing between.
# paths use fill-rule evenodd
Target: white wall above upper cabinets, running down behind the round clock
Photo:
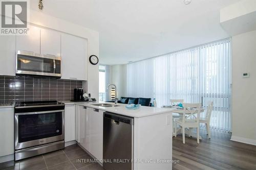
<instances>
[{"instance_id":1,"label":"white wall above upper cabinets, running down behind the round clock","mask_svg":"<svg viewBox=\"0 0 256 170\"><path fill-rule=\"evenodd\" d=\"M84 82L88 93L91 93L93 98L99 98L99 66L92 65L89 62L91 55L96 55L99 58L99 33L97 31L84 28L74 23L62 20L50 15L44 14L44 11L30 10L30 22L36 26L57 30L60 32L72 34L88 40L88 81Z\"/></svg>"}]
</instances>

